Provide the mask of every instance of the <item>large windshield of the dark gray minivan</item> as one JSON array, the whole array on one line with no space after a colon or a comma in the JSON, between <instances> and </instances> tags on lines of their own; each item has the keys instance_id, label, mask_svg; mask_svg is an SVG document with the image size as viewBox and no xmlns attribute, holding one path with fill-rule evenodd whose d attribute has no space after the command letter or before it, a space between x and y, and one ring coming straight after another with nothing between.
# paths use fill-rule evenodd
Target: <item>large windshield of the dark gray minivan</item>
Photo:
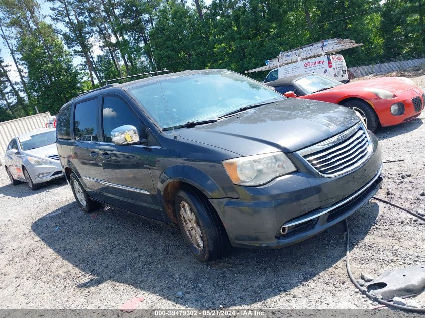
<instances>
[{"instance_id":1,"label":"large windshield of the dark gray minivan","mask_svg":"<svg viewBox=\"0 0 425 318\"><path fill-rule=\"evenodd\" d=\"M163 129L285 99L263 84L227 70L168 77L129 91Z\"/></svg>"}]
</instances>

